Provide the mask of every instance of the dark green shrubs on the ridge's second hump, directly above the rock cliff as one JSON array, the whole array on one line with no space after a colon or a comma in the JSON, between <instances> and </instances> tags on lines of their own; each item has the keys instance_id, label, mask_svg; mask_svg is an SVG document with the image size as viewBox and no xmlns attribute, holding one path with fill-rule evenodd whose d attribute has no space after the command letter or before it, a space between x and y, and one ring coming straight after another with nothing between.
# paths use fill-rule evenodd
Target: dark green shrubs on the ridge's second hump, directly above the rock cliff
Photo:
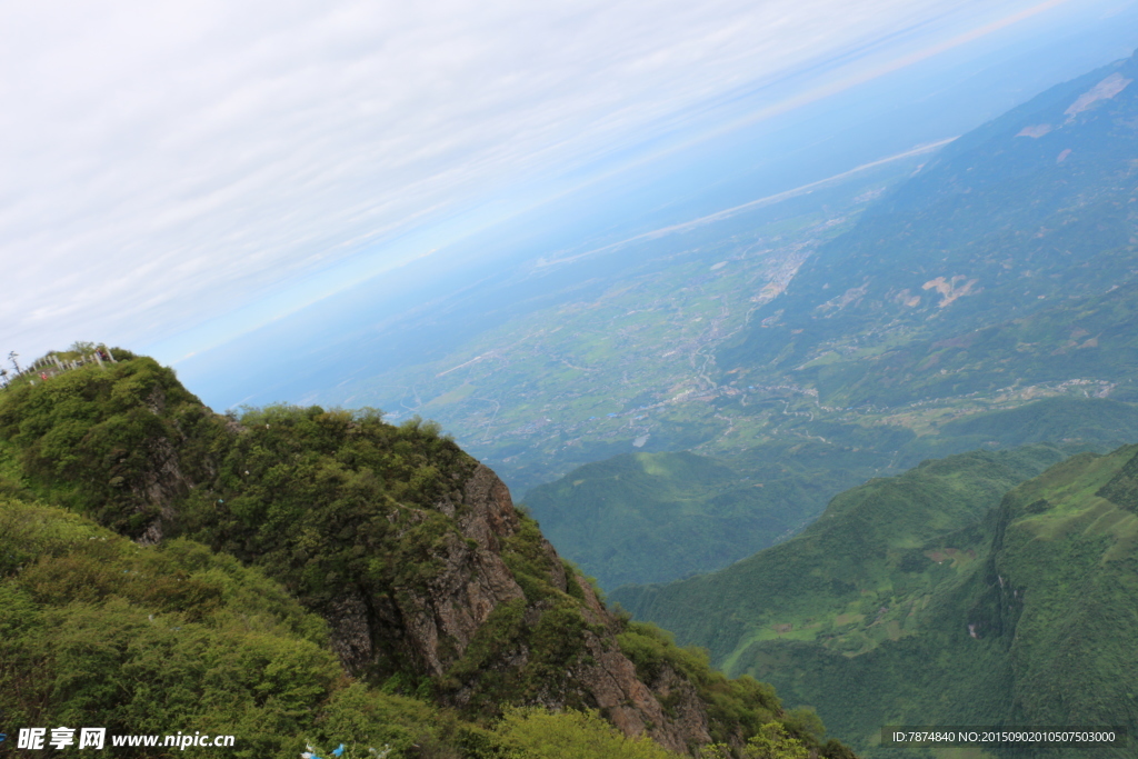
<instances>
[{"instance_id":1,"label":"dark green shrubs on the ridge's second hump, directly above the rock cliff","mask_svg":"<svg viewBox=\"0 0 1138 759\"><path fill-rule=\"evenodd\" d=\"M181 505L179 531L264 567L315 609L345 584L386 593L430 576L435 544L456 529L412 510L460 487L475 463L436 428L271 406L241 430L213 486Z\"/></svg>"}]
</instances>

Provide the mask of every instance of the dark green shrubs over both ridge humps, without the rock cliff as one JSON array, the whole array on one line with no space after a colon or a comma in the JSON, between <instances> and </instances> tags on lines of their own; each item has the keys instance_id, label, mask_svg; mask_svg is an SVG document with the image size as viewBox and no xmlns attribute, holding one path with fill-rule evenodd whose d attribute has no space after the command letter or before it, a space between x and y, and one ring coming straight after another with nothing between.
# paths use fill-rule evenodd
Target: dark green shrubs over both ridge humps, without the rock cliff
<instances>
[{"instance_id":1,"label":"dark green shrubs over both ridge humps, without the rock cliff","mask_svg":"<svg viewBox=\"0 0 1138 759\"><path fill-rule=\"evenodd\" d=\"M316 611L346 584L421 586L456 529L417 508L475 465L431 424L371 410L271 406L238 423L145 357L13 388L0 440L34 493L131 537L193 537Z\"/></svg>"}]
</instances>

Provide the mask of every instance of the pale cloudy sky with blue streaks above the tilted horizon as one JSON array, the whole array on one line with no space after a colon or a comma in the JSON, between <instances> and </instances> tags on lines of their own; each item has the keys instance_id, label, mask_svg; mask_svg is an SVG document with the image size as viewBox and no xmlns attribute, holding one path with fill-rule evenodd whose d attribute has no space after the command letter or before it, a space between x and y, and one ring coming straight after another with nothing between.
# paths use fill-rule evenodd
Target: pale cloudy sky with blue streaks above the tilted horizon
<instances>
[{"instance_id":1,"label":"pale cloudy sky with blue streaks above the tilted horizon","mask_svg":"<svg viewBox=\"0 0 1138 759\"><path fill-rule=\"evenodd\" d=\"M630 167L1133 6L3 3L0 350L176 363Z\"/></svg>"}]
</instances>

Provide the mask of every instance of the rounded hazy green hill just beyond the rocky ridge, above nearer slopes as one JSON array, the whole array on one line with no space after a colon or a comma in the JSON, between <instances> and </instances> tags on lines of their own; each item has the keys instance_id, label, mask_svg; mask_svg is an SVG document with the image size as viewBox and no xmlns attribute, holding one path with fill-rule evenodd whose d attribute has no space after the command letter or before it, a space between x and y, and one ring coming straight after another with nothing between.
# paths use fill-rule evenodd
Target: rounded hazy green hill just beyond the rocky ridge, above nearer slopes
<instances>
[{"instance_id":1,"label":"rounded hazy green hill just beyond the rocky ridge, above nearer slopes","mask_svg":"<svg viewBox=\"0 0 1138 759\"><path fill-rule=\"evenodd\" d=\"M811 470L815 452L794 447L767 448L762 462L754 454L748 462L624 454L534 488L526 506L558 550L603 587L667 581L719 569L789 537L830 497L874 472L856 462ZM839 463L840 453L828 453Z\"/></svg>"}]
</instances>

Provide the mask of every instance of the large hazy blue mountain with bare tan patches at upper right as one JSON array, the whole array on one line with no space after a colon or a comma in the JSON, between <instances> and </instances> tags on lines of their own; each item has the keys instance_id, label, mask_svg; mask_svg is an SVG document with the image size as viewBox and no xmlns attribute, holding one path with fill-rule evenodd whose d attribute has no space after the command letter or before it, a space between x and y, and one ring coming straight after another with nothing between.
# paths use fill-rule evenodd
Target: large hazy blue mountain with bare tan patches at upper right
<instances>
[{"instance_id":1,"label":"large hazy blue mountain with bare tan patches at upper right","mask_svg":"<svg viewBox=\"0 0 1138 759\"><path fill-rule=\"evenodd\" d=\"M1136 77L1138 60L1120 61L946 147L822 246L721 366L784 372L842 406L1072 379L1129 388Z\"/></svg>"}]
</instances>

